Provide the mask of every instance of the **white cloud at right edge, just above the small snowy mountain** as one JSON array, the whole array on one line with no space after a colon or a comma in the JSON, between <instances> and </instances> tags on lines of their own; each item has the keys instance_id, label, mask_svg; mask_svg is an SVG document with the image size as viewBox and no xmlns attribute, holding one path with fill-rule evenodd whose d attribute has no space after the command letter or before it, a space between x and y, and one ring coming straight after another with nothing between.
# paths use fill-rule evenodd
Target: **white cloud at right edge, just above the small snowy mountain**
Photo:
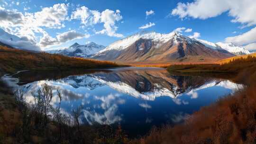
<instances>
[{"instance_id":1,"label":"white cloud at right edge, just above the small snowy mountain","mask_svg":"<svg viewBox=\"0 0 256 144\"><path fill-rule=\"evenodd\" d=\"M247 45L256 42L256 27L238 36L231 36L225 39L227 43L234 43L235 45Z\"/></svg>"}]
</instances>

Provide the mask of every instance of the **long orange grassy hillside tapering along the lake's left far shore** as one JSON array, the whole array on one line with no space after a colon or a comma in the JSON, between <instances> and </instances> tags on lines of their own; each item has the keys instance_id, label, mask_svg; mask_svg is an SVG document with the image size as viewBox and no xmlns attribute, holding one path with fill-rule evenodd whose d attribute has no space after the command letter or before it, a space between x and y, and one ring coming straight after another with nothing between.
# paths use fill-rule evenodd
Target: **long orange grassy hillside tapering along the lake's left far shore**
<instances>
[{"instance_id":1,"label":"long orange grassy hillside tapering along the lake's left far shore","mask_svg":"<svg viewBox=\"0 0 256 144\"><path fill-rule=\"evenodd\" d=\"M0 71L16 72L28 69L65 69L65 68L110 68L120 65L83 58L67 57L60 54L33 53L0 46Z\"/></svg>"}]
</instances>

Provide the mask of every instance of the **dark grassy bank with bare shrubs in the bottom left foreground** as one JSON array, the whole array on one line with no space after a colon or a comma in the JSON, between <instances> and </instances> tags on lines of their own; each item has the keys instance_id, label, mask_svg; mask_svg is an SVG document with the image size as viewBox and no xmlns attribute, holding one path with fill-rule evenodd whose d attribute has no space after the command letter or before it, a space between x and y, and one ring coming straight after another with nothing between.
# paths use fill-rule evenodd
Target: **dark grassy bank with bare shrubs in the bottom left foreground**
<instances>
[{"instance_id":1,"label":"dark grassy bank with bare shrubs in the bottom left foreground","mask_svg":"<svg viewBox=\"0 0 256 144\"><path fill-rule=\"evenodd\" d=\"M120 126L84 125L79 121L82 106L71 116L50 104L52 88L42 85L28 104L20 87L15 93L0 82L0 144L128 144ZM61 94L59 106L61 105ZM52 116L49 116L51 113Z\"/></svg>"}]
</instances>

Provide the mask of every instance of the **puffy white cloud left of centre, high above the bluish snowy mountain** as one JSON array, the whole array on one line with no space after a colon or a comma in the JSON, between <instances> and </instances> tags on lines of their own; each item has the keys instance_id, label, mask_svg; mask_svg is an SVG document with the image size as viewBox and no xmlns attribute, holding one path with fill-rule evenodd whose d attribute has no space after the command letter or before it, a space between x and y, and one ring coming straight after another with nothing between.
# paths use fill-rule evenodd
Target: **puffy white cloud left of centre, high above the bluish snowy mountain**
<instances>
[{"instance_id":1,"label":"puffy white cloud left of centre, high above the bluish snowy mountain","mask_svg":"<svg viewBox=\"0 0 256 144\"><path fill-rule=\"evenodd\" d=\"M85 6L77 8L72 12L71 19L81 19L81 24L85 26L93 26L98 23L103 23L104 29L97 31L96 34L106 34L108 36L123 37L122 34L116 33L118 27L116 23L123 17L120 15L120 10L116 11L105 9L102 12L88 9Z\"/></svg>"}]
</instances>

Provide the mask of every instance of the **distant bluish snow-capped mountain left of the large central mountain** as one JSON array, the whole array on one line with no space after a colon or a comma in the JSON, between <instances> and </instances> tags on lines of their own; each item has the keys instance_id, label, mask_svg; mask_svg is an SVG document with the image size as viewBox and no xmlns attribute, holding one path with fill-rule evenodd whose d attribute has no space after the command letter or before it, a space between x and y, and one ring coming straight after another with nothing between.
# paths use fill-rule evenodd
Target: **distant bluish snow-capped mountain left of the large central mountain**
<instances>
[{"instance_id":1,"label":"distant bluish snow-capped mountain left of the large central mountain","mask_svg":"<svg viewBox=\"0 0 256 144\"><path fill-rule=\"evenodd\" d=\"M95 54L104 48L105 46L103 45L98 45L93 42L88 42L85 45L79 45L78 43L74 43L68 48L53 50L53 51L46 51L46 52L51 54L63 54L66 56L73 56L73 57L89 57L91 54Z\"/></svg>"}]
</instances>

